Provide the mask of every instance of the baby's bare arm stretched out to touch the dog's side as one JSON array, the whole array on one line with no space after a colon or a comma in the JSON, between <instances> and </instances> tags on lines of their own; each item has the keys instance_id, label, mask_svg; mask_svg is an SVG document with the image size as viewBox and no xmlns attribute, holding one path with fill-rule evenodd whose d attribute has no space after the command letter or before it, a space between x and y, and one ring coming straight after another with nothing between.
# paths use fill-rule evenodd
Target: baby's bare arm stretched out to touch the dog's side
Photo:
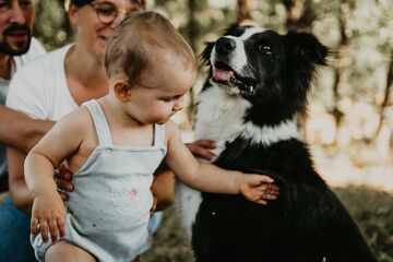
<instances>
[{"instance_id":1,"label":"baby's bare arm stretched out to touch the dog's side","mask_svg":"<svg viewBox=\"0 0 393 262\"><path fill-rule=\"evenodd\" d=\"M278 188L273 184L272 178L225 170L212 164L200 163L182 143L178 127L172 121L168 121L166 127L166 163L186 184L204 192L242 193L248 200L261 204L266 203L263 199L276 199Z\"/></svg>"}]
</instances>

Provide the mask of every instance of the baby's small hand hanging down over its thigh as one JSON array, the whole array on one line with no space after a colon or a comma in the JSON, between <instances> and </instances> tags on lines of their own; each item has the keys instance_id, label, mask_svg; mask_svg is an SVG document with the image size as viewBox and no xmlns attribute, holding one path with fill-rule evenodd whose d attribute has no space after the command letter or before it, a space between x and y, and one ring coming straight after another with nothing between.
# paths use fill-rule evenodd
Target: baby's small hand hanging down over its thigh
<instances>
[{"instance_id":1,"label":"baby's small hand hanging down over its thigh","mask_svg":"<svg viewBox=\"0 0 393 262\"><path fill-rule=\"evenodd\" d=\"M55 193L40 194L34 198L32 210L31 233L37 234L37 226L44 242L48 241L48 229L52 242L66 235L66 209L60 195Z\"/></svg>"}]
</instances>

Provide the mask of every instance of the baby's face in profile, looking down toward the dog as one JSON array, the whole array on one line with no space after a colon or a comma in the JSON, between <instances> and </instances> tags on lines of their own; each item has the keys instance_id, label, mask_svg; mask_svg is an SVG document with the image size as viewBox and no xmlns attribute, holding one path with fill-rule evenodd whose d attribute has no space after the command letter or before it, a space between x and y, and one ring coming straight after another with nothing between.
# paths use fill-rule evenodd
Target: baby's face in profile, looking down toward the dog
<instances>
[{"instance_id":1,"label":"baby's face in profile, looking down toward the dog","mask_svg":"<svg viewBox=\"0 0 393 262\"><path fill-rule=\"evenodd\" d=\"M162 56L132 86L129 114L142 123L164 123L183 107L183 96L195 79L192 63L176 56Z\"/></svg>"}]
</instances>

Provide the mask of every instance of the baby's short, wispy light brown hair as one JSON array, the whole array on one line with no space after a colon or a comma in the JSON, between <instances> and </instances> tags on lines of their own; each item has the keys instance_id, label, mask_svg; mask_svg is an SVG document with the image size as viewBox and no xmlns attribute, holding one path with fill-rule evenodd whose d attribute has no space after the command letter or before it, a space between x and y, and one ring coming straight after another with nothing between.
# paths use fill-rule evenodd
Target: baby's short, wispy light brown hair
<instances>
[{"instance_id":1,"label":"baby's short, wispy light brown hair","mask_svg":"<svg viewBox=\"0 0 393 262\"><path fill-rule=\"evenodd\" d=\"M152 11L128 14L105 49L108 79L124 75L130 84L141 84L141 74L154 64L163 49L196 68L191 47L164 15Z\"/></svg>"}]
</instances>

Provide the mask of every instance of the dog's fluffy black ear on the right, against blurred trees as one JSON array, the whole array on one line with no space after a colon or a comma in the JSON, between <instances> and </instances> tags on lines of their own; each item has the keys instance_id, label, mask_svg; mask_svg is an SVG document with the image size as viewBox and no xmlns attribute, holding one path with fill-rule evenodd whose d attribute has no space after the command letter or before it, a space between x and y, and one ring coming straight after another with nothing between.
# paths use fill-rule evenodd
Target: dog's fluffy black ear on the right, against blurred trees
<instances>
[{"instance_id":1,"label":"dog's fluffy black ear on the right, against blurred trees","mask_svg":"<svg viewBox=\"0 0 393 262\"><path fill-rule=\"evenodd\" d=\"M291 63L295 62L297 68L313 70L318 66L326 64L329 49L314 35L291 31L285 35L285 39L287 48L290 49Z\"/></svg>"}]
</instances>

